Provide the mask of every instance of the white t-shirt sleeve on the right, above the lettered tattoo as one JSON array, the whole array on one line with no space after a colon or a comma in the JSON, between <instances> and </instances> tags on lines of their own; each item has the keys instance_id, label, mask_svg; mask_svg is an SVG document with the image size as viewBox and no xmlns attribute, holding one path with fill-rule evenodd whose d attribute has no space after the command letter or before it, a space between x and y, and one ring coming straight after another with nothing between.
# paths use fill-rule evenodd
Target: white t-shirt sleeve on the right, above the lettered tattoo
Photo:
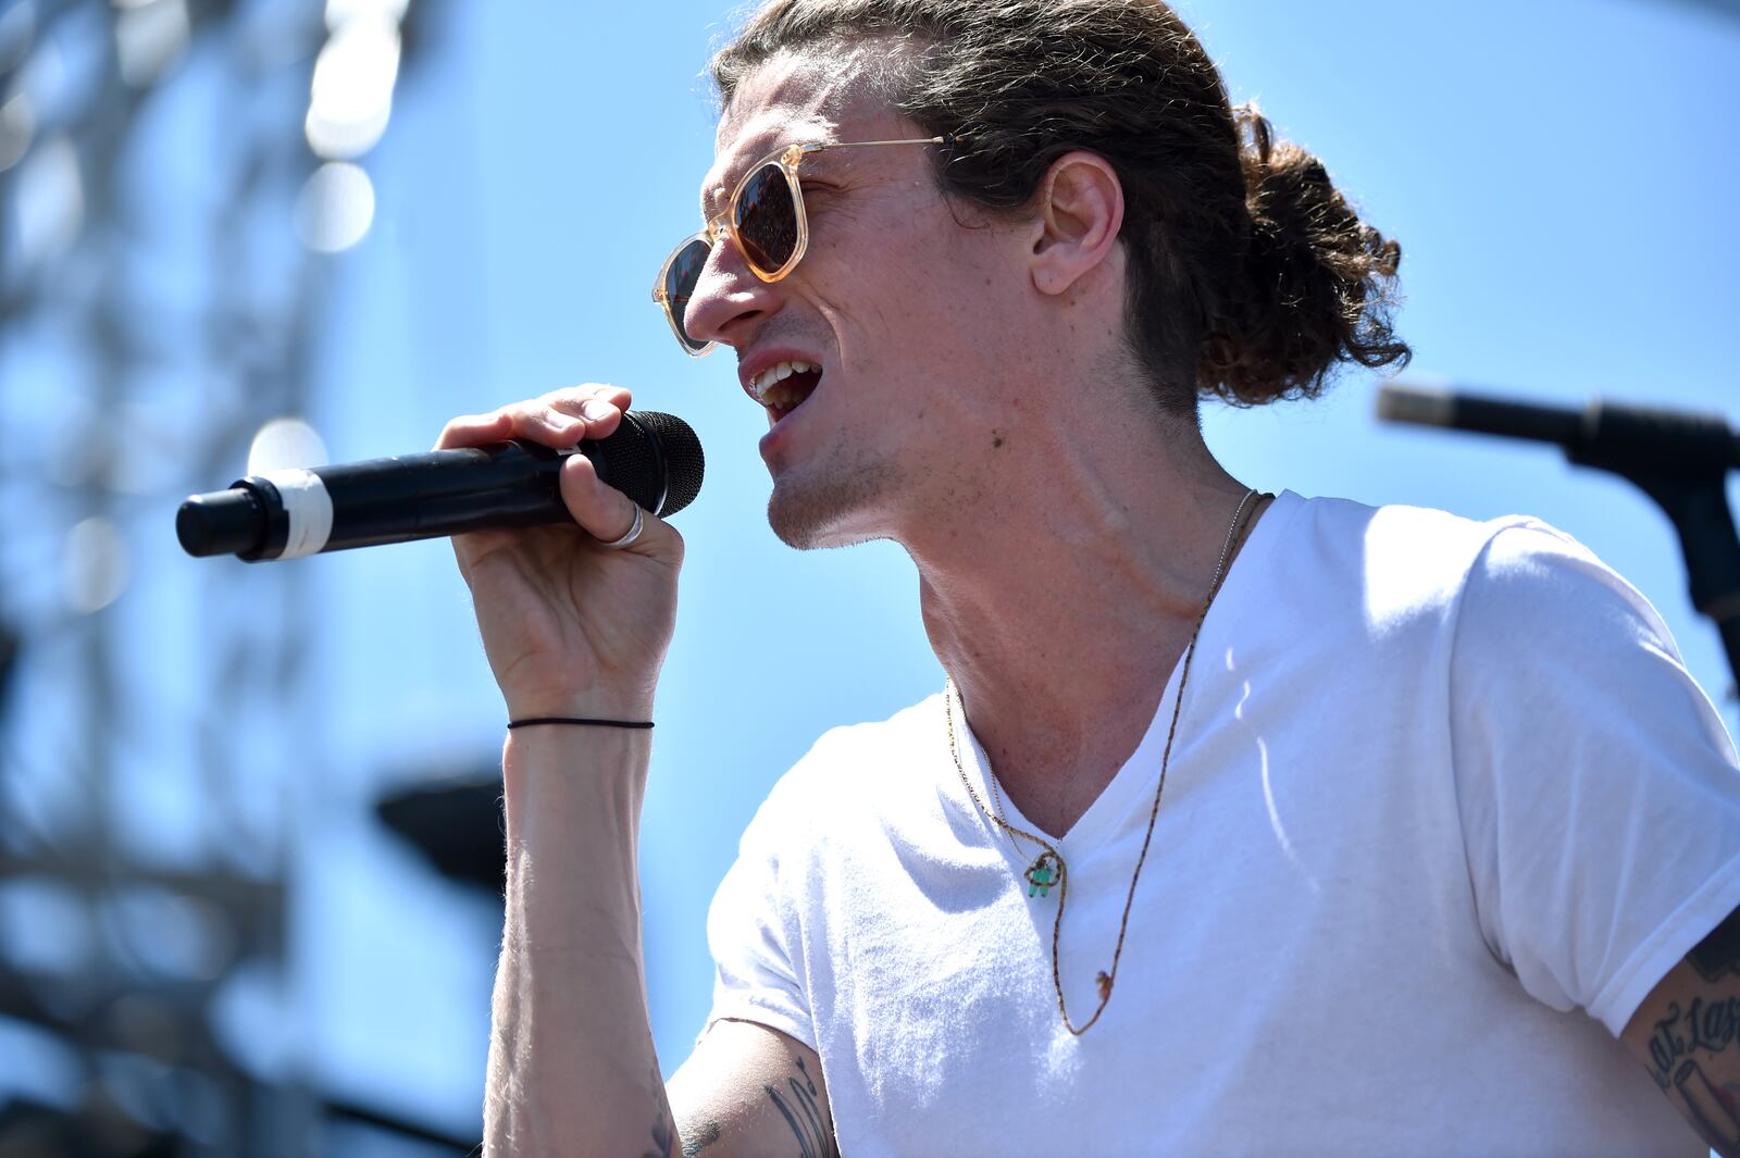
<instances>
[{"instance_id":1,"label":"white t-shirt sleeve on the right, above the lettered tattoo","mask_svg":"<svg viewBox=\"0 0 1740 1158\"><path fill-rule=\"evenodd\" d=\"M1540 525L1486 544L1451 746L1481 928L1522 988L1618 1035L1740 906L1740 772L1655 609Z\"/></svg>"}]
</instances>

